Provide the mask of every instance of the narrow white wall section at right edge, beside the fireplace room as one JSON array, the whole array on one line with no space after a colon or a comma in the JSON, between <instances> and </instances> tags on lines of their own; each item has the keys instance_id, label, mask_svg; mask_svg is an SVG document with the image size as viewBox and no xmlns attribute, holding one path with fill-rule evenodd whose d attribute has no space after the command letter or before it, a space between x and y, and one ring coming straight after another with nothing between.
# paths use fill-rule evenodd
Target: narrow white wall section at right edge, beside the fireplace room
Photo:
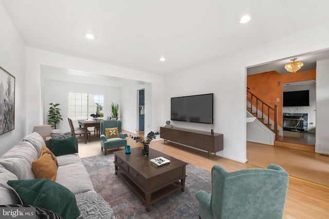
<instances>
[{"instance_id":1,"label":"narrow white wall section at right edge, beside the fireplace room","mask_svg":"<svg viewBox=\"0 0 329 219\"><path fill-rule=\"evenodd\" d=\"M317 61L315 152L329 154L329 59Z\"/></svg>"}]
</instances>

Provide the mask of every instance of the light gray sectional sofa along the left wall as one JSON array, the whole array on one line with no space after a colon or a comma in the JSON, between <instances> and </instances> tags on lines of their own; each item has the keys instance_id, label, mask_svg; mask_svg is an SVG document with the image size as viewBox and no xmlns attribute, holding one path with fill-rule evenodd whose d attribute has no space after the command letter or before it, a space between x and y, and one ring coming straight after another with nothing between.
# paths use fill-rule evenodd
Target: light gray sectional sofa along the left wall
<instances>
[{"instance_id":1,"label":"light gray sectional sofa along the left wall","mask_svg":"<svg viewBox=\"0 0 329 219\"><path fill-rule=\"evenodd\" d=\"M32 162L39 158L42 147L46 145L49 148L49 140L45 142L38 133L32 133L0 157L0 205L25 204L7 182L34 179ZM58 170L55 182L75 194L81 213L79 218L115 218L111 207L94 190L79 154L56 158Z\"/></svg>"}]
</instances>

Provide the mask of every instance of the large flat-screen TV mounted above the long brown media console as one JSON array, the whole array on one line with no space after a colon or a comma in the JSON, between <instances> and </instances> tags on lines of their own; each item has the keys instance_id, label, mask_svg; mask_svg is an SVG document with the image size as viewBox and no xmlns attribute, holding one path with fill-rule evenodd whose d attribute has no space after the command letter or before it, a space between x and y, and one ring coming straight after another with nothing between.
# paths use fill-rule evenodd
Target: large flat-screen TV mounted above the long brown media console
<instances>
[{"instance_id":1,"label":"large flat-screen TV mounted above the long brown media console","mask_svg":"<svg viewBox=\"0 0 329 219\"><path fill-rule=\"evenodd\" d=\"M171 98L171 120L213 122L213 94Z\"/></svg>"}]
</instances>

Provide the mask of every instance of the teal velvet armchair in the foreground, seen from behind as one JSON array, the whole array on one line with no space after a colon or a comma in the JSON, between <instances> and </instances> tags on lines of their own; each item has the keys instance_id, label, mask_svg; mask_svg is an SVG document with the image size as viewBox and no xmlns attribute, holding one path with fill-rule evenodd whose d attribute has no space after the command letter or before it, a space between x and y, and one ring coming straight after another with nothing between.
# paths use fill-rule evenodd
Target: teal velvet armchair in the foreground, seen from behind
<instances>
[{"instance_id":1,"label":"teal velvet armchair in the foreground, seen from behind","mask_svg":"<svg viewBox=\"0 0 329 219\"><path fill-rule=\"evenodd\" d=\"M286 171L270 164L267 169L227 172L211 169L212 191L199 190L199 218L282 218L289 184Z\"/></svg>"}]
</instances>

